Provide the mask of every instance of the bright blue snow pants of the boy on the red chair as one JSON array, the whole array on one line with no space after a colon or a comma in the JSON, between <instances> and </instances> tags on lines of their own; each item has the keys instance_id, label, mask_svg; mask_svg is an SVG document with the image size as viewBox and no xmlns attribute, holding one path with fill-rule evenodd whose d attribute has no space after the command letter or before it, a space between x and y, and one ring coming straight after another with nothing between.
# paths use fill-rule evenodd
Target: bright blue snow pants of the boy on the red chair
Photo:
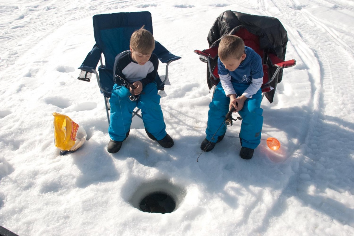
<instances>
[{"instance_id":1,"label":"bright blue snow pants of the boy on the red chair","mask_svg":"<svg viewBox=\"0 0 354 236\"><path fill-rule=\"evenodd\" d=\"M238 95L242 94L248 86L249 85L247 84L233 83L235 92ZM241 131L239 134L242 147L255 149L261 142L263 126L263 109L261 108L261 101L262 91L259 89L259 91L251 98L246 99L244 107L239 111L242 118ZM224 122L225 115L229 111L229 104L230 98L225 95L221 83L219 83L216 86L213 99L209 104L208 123L205 131L207 140L216 143L218 137L225 134L226 126L221 124ZM221 128L217 131L220 125Z\"/></svg>"}]
</instances>

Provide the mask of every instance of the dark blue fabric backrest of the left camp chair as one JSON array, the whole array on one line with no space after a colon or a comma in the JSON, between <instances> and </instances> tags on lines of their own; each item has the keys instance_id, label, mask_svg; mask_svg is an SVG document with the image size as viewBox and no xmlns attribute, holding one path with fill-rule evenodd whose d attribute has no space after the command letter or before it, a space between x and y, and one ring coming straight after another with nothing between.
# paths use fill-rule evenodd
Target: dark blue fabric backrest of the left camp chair
<instances>
[{"instance_id":1,"label":"dark blue fabric backrest of the left camp chair","mask_svg":"<svg viewBox=\"0 0 354 236\"><path fill-rule=\"evenodd\" d=\"M116 55L129 50L131 35L142 26L153 34L150 12L119 12L93 16L95 41L105 60L105 65L98 68L105 97L110 97L114 85L113 67Z\"/></svg>"}]
</instances>

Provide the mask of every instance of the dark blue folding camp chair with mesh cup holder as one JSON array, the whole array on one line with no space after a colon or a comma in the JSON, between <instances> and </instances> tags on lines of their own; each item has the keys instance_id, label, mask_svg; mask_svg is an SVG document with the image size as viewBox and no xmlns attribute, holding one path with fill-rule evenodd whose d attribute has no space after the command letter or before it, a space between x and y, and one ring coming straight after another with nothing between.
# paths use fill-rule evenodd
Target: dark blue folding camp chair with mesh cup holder
<instances>
[{"instance_id":1,"label":"dark blue folding camp chair with mesh cup holder","mask_svg":"<svg viewBox=\"0 0 354 236\"><path fill-rule=\"evenodd\" d=\"M107 112L109 124L109 103L111 96L114 75L113 67L115 56L121 52L129 50L130 37L135 30L142 26L153 34L153 24L150 12L119 12L112 14L99 14L93 16L93 33L95 35L96 44L91 52L87 54L84 62L79 67L81 69L79 80L90 81L92 73L95 73L97 83L101 93L103 93L104 104ZM105 65L102 62L102 53L104 55ZM155 49L153 51L162 63L166 64L166 75L156 74L155 83L159 92L164 90L166 81L168 80L168 67L172 61L181 59L179 56L171 54L164 46L155 41ZM98 61L101 65L96 67ZM133 111L133 116L138 114L139 109Z\"/></svg>"}]
</instances>

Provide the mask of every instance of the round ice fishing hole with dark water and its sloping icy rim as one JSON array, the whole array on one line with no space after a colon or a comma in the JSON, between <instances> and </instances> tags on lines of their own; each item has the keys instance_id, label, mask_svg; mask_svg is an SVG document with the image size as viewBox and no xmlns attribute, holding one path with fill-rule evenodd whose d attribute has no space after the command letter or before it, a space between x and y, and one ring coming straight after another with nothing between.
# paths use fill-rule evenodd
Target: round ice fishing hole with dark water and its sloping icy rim
<instances>
[{"instance_id":1,"label":"round ice fishing hole with dark water and its sloping icy rim","mask_svg":"<svg viewBox=\"0 0 354 236\"><path fill-rule=\"evenodd\" d=\"M164 214L176 211L185 194L185 189L168 180L155 180L141 184L129 202L143 212Z\"/></svg>"}]
</instances>

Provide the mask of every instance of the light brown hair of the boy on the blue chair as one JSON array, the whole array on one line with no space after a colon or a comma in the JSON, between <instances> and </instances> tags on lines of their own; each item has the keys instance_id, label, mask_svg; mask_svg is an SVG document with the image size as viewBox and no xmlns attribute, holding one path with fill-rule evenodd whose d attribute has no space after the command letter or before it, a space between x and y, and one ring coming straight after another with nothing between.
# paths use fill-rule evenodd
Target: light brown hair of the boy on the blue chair
<instances>
[{"instance_id":1,"label":"light brown hair of the boy on the blue chair","mask_svg":"<svg viewBox=\"0 0 354 236\"><path fill-rule=\"evenodd\" d=\"M130 37L130 47L144 55L149 55L155 49L154 36L144 29L144 26L133 32Z\"/></svg>"}]
</instances>

